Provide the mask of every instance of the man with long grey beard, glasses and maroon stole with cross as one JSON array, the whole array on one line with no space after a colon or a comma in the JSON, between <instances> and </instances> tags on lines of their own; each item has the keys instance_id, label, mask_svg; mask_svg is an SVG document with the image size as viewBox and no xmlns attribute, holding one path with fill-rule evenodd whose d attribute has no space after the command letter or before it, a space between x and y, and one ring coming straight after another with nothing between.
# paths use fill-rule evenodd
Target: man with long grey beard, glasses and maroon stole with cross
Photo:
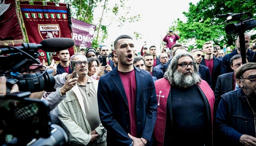
<instances>
[{"instance_id":1,"label":"man with long grey beard, glasses and maroon stole with cross","mask_svg":"<svg viewBox=\"0 0 256 146\"><path fill-rule=\"evenodd\" d=\"M155 82L155 145L212 145L214 92L190 53L176 54Z\"/></svg>"}]
</instances>

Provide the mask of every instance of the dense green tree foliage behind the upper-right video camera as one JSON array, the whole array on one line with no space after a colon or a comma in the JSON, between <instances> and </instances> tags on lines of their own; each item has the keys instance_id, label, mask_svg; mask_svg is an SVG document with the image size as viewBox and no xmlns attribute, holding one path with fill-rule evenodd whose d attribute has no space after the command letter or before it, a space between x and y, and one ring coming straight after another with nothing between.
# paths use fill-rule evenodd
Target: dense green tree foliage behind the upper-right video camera
<instances>
[{"instance_id":1,"label":"dense green tree foliage behind the upper-right video camera","mask_svg":"<svg viewBox=\"0 0 256 146\"><path fill-rule=\"evenodd\" d=\"M188 43L195 40L195 45L201 48L206 41L214 41L216 45L233 45L238 35L225 33L226 18L217 18L218 14L251 12L256 14L254 0L200 0L196 5L189 3L189 11L183 12L187 22L180 19L172 24L179 31L180 41ZM255 28L254 28L255 30Z\"/></svg>"}]
</instances>

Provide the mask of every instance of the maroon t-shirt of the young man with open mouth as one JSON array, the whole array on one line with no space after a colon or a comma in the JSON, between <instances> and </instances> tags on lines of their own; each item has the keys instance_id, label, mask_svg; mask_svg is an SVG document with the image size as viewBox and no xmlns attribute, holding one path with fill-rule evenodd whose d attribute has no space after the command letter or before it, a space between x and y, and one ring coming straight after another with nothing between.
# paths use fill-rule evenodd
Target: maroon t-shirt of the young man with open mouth
<instances>
[{"instance_id":1,"label":"maroon t-shirt of the young man with open mouth","mask_svg":"<svg viewBox=\"0 0 256 146\"><path fill-rule=\"evenodd\" d=\"M127 73L119 72L119 75L126 92L126 98L129 107L130 134L134 137L137 137L135 70L133 69L132 71Z\"/></svg>"}]
</instances>

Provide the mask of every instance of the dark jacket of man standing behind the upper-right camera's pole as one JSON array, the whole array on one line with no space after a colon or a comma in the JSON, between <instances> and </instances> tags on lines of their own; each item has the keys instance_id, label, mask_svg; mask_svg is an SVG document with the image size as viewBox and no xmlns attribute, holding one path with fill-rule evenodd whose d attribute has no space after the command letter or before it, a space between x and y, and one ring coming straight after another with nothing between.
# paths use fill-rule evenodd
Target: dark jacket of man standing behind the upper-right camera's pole
<instances>
[{"instance_id":1,"label":"dark jacket of man standing behind the upper-right camera's pole","mask_svg":"<svg viewBox=\"0 0 256 146\"><path fill-rule=\"evenodd\" d=\"M229 61L236 54L238 54L237 49L234 50L233 52L229 53L229 54L224 55L224 57L222 58L222 61L221 61L221 72L220 72L220 74L233 72L233 69L230 67ZM252 61L253 54L254 54L254 51L251 51L250 49L248 49L246 55L249 56L250 62Z\"/></svg>"}]
</instances>

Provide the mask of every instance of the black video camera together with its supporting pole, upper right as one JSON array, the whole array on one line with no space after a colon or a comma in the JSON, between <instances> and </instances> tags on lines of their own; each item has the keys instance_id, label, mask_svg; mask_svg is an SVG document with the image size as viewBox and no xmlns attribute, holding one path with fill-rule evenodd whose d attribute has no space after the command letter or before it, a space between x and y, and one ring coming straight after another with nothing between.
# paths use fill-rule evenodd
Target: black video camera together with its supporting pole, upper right
<instances>
[{"instance_id":1,"label":"black video camera together with its supporting pole, upper right","mask_svg":"<svg viewBox=\"0 0 256 146\"><path fill-rule=\"evenodd\" d=\"M244 16L248 16L245 19L241 19ZM217 15L217 17L227 17L227 20L225 22L233 22L233 21L239 21L238 23L232 23L225 26L225 32L226 34L239 34L239 44L240 44L240 54L242 57L242 63L246 64L246 49L245 48L245 38L244 38L244 32L248 31L250 29L253 29L256 27L256 20L252 19L252 13L251 12L243 12L243 13L227 13L224 15ZM255 56L255 54L254 54ZM253 57L254 60L254 57Z\"/></svg>"}]
</instances>

